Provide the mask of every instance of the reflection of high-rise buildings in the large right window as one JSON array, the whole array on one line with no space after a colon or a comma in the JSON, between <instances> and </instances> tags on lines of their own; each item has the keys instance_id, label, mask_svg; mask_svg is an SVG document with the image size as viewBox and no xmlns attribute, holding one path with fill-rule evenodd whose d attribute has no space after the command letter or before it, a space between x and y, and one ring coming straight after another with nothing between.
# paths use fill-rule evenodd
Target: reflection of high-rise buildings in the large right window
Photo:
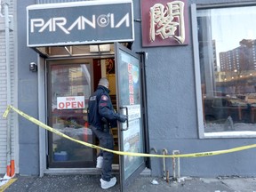
<instances>
[{"instance_id":1,"label":"reflection of high-rise buildings in the large right window","mask_svg":"<svg viewBox=\"0 0 256 192\"><path fill-rule=\"evenodd\" d=\"M223 92L255 92L256 40L240 41L240 46L220 52L220 72L216 74L217 86Z\"/></svg>"}]
</instances>

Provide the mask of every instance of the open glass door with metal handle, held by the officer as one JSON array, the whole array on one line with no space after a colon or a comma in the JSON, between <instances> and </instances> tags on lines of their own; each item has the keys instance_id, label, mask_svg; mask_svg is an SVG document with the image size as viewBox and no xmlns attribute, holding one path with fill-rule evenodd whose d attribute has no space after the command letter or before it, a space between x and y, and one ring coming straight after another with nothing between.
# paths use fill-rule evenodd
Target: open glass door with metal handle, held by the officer
<instances>
[{"instance_id":1,"label":"open glass door with metal handle, held by the officer","mask_svg":"<svg viewBox=\"0 0 256 192\"><path fill-rule=\"evenodd\" d=\"M124 124L118 123L119 150L144 153L140 55L117 43L115 50L117 108L128 116ZM145 169L145 158L120 156L119 164L121 190L125 191Z\"/></svg>"}]
</instances>

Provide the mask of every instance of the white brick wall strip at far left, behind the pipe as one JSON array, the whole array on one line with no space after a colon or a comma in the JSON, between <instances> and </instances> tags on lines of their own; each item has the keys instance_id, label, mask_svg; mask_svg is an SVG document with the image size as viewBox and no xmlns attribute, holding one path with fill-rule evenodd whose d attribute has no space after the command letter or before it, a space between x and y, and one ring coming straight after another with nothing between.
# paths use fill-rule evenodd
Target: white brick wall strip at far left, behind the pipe
<instances>
[{"instance_id":1,"label":"white brick wall strip at far left, behind the pipe","mask_svg":"<svg viewBox=\"0 0 256 192\"><path fill-rule=\"evenodd\" d=\"M0 12L0 173L6 172L7 165L7 119L3 118L5 109L7 108L7 63L6 63L6 41L5 41L5 25L4 25L4 1L2 1L2 9ZM12 15L15 22L16 2L10 0L9 15ZM12 23L13 24L13 23ZM17 65L15 55L15 34L16 28L12 28L9 34L9 66L11 76L11 104L17 104ZM11 158L14 160L18 152L17 140L17 121L16 116L10 113L11 129Z\"/></svg>"}]
</instances>

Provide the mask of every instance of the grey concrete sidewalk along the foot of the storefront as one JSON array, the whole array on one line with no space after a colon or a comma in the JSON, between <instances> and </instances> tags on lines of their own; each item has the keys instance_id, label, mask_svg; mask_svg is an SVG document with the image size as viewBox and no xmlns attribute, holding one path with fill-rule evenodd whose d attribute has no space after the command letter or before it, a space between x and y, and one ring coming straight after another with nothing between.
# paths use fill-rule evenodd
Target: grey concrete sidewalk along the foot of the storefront
<instances>
[{"instance_id":1,"label":"grey concrete sidewalk along the foot of the storefront","mask_svg":"<svg viewBox=\"0 0 256 192\"><path fill-rule=\"evenodd\" d=\"M63 191L120 191L120 184L113 188L100 188L100 175L45 175L44 177L31 177L16 175L15 180L4 192L63 192ZM117 178L118 179L118 178ZM181 178L180 182L169 181L140 175L129 192L256 192L256 178L224 177L224 178ZM153 184L152 181L155 183ZM0 189L0 191L3 191Z\"/></svg>"}]
</instances>

